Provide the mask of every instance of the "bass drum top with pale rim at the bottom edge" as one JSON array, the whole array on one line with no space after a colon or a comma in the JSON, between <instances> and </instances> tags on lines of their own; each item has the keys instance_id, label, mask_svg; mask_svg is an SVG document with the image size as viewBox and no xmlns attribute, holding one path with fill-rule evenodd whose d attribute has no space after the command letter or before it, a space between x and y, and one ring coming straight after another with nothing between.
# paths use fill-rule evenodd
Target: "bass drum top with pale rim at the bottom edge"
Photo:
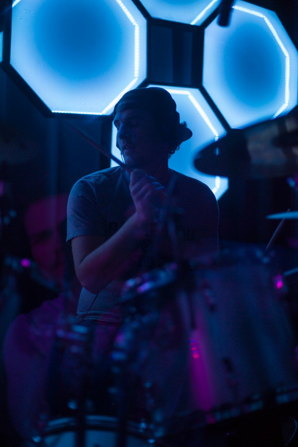
<instances>
[{"instance_id":1,"label":"bass drum top with pale rim at the bottom edge","mask_svg":"<svg viewBox=\"0 0 298 447\"><path fill-rule=\"evenodd\" d=\"M116 445L117 420L114 417L88 415L86 417L85 447L112 447ZM150 441L150 439L149 439ZM152 440L152 442L154 442ZM157 446L170 447L168 444L155 443ZM63 417L53 419L46 428L42 447L75 447L76 419ZM148 446L148 433L140 423L127 423L127 447Z\"/></svg>"}]
</instances>

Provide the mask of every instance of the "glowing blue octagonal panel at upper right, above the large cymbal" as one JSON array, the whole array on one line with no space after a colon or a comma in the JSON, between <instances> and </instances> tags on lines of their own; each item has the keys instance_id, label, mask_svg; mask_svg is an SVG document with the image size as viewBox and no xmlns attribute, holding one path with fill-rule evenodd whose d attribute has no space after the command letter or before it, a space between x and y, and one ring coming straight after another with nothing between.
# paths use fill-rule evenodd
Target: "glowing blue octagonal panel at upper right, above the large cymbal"
<instances>
[{"instance_id":1,"label":"glowing blue octagonal panel at upper right, above the large cymbal","mask_svg":"<svg viewBox=\"0 0 298 447\"><path fill-rule=\"evenodd\" d=\"M277 15L238 0L231 25L205 30L203 85L231 127L297 104L298 52Z\"/></svg>"}]
</instances>

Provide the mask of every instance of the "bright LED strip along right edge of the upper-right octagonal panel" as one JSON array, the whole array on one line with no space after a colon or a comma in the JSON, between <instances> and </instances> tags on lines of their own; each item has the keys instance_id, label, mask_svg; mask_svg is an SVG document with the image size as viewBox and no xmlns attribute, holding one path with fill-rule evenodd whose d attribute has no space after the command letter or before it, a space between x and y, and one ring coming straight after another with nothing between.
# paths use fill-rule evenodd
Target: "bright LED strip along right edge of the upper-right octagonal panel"
<instances>
[{"instance_id":1,"label":"bright LED strip along right edge of the upper-right octagonal panel","mask_svg":"<svg viewBox=\"0 0 298 447\"><path fill-rule=\"evenodd\" d=\"M290 100L290 56L289 56L289 53L286 50L284 44L281 42L281 38L277 34L276 29L274 28L272 23L269 21L269 19L266 16L264 16L264 14L258 13L257 11L253 11L252 9L243 8L242 6L237 6L237 5L234 5L233 8L238 9L238 11L242 11L243 13L252 14L253 16L257 16L257 17L264 19L266 25L268 26L269 30L273 34L273 37L275 38L278 45L280 46L281 51L285 55L285 102L277 110L276 114L273 115L273 117L272 117L272 119L277 118L278 115L280 115L287 108L287 106L289 105L289 100Z\"/></svg>"}]
</instances>

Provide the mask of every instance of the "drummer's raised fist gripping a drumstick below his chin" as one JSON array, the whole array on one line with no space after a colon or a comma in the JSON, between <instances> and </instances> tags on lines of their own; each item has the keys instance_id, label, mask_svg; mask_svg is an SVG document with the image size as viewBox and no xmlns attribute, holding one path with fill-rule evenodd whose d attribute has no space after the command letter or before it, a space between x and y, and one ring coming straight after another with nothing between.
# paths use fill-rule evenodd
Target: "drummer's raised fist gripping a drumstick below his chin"
<instances>
[{"instance_id":1,"label":"drummer's raised fist gripping a drumstick below his chin","mask_svg":"<svg viewBox=\"0 0 298 447\"><path fill-rule=\"evenodd\" d=\"M142 169L134 169L130 174L130 194L134 201L138 221L149 223L154 216L154 208L159 207L166 197L165 188L154 177Z\"/></svg>"}]
</instances>

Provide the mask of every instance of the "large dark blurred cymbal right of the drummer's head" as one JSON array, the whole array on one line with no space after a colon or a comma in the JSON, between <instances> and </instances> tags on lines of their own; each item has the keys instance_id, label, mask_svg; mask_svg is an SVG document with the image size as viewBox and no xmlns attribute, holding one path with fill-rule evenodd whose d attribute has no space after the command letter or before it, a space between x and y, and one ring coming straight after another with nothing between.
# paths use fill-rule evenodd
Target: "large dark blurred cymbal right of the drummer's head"
<instances>
[{"instance_id":1,"label":"large dark blurred cymbal right of the drummer's head","mask_svg":"<svg viewBox=\"0 0 298 447\"><path fill-rule=\"evenodd\" d=\"M298 172L298 114L260 122L227 135L197 152L202 173L264 179Z\"/></svg>"}]
</instances>

